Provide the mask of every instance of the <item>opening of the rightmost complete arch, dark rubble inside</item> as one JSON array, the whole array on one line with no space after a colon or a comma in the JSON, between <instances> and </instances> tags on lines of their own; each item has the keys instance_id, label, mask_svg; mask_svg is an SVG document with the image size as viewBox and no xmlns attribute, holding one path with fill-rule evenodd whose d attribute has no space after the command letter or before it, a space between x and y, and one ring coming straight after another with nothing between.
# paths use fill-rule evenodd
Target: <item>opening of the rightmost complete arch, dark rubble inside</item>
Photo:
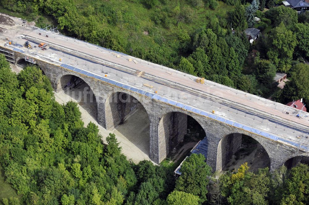
<instances>
[{"instance_id":1,"label":"opening of the rightmost complete arch, dark rubble inside","mask_svg":"<svg viewBox=\"0 0 309 205\"><path fill-rule=\"evenodd\" d=\"M237 170L245 162L248 162L252 171L270 167L267 151L254 138L241 133L232 133L219 141L217 171Z\"/></svg>"}]
</instances>

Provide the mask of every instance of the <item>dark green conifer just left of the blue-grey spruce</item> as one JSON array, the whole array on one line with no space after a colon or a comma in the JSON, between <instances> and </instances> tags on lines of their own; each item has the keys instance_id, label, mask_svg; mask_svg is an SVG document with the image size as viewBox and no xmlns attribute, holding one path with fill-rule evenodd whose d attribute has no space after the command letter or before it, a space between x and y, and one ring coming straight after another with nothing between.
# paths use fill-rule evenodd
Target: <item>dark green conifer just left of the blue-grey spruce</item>
<instances>
[{"instance_id":1,"label":"dark green conifer just left of the blue-grey spruce","mask_svg":"<svg viewBox=\"0 0 309 205\"><path fill-rule=\"evenodd\" d=\"M244 6L239 0L236 1L235 8L230 14L231 26L234 30L242 32L248 27L245 17Z\"/></svg>"}]
</instances>

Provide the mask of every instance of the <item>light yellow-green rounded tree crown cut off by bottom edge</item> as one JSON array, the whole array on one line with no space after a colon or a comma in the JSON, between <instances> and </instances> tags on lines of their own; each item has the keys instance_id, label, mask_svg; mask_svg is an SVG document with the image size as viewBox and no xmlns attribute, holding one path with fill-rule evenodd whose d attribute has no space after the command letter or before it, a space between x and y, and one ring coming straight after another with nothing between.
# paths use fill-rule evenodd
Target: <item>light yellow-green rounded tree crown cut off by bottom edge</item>
<instances>
[{"instance_id":1,"label":"light yellow-green rounded tree crown cut off by bottom edge","mask_svg":"<svg viewBox=\"0 0 309 205\"><path fill-rule=\"evenodd\" d=\"M173 191L166 201L168 205L198 205L199 198L183 191Z\"/></svg>"}]
</instances>

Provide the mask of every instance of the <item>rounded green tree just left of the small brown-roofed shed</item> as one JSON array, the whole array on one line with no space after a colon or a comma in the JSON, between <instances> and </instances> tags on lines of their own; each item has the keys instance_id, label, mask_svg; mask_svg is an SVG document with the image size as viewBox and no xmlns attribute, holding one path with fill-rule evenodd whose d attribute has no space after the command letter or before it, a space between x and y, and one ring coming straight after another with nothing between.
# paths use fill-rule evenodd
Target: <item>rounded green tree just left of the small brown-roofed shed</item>
<instances>
[{"instance_id":1,"label":"rounded green tree just left of the small brown-roofed shed","mask_svg":"<svg viewBox=\"0 0 309 205\"><path fill-rule=\"evenodd\" d=\"M276 66L269 60L261 59L256 63L256 78L263 84L271 84L276 75Z\"/></svg>"}]
</instances>

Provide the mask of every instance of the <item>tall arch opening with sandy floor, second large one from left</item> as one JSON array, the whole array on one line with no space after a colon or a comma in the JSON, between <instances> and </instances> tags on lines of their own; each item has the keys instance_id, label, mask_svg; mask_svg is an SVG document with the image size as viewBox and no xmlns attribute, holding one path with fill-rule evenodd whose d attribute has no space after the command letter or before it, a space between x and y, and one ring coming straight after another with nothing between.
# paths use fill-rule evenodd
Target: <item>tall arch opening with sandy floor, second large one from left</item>
<instances>
[{"instance_id":1,"label":"tall arch opening with sandy floor, second large one from left","mask_svg":"<svg viewBox=\"0 0 309 205\"><path fill-rule=\"evenodd\" d=\"M128 145L122 149L133 162L149 159L150 121L139 100L125 92L112 93L105 102L105 119L106 129Z\"/></svg>"}]
</instances>

